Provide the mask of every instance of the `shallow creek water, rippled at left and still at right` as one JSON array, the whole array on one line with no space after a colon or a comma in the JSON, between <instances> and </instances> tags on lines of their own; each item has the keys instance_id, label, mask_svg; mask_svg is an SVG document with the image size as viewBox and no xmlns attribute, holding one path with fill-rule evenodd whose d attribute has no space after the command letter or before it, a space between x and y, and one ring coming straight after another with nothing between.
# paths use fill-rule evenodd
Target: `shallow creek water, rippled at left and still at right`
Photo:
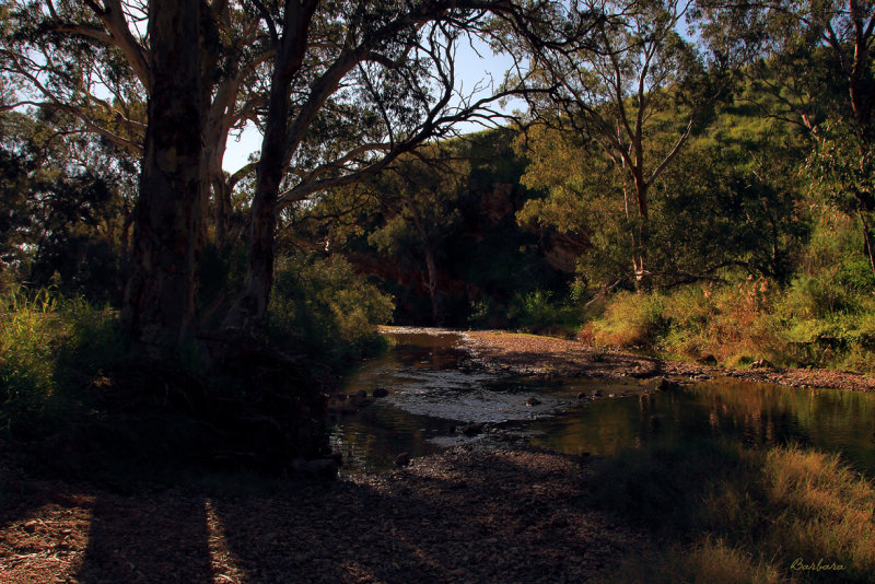
<instances>
[{"instance_id":1,"label":"shallow creek water, rippled at left and still at right","mask_svg":"<svg viewBox=\"0 0 875 584\"><path fill-rule=\"evenodd\" d=\"M498 434L569 454L615 454L644 443L731 439L840 451L875 477L875 395L720 378L652 393L653 381L486 373L453 332L401 329L395 347L350 374L343 393L371 396L331 423L342 474L393 467ZM579 399L583 394L584 399Z\"/></svg>"}]
</instances>

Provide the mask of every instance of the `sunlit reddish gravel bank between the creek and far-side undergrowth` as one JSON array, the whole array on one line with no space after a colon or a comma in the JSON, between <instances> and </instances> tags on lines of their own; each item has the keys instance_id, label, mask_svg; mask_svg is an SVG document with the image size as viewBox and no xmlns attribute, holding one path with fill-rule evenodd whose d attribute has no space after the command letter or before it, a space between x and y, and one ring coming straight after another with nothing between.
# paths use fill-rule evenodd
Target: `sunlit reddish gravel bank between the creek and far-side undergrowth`
<instances>
[{"instance_id":1,"label":"sunlit reddish gravel bank between the creek and far-side undergrowth","mask_svg":"<svg viewBox=\"0 0 875 584\"><path fill-rule=\"evenodd\" d=\"M488 370L573 377L739 377L794 387L875 390L875 378L832 370L724 369L621 351L594 350L578 341L492 330L464 334L475 361Z\"/></svg>"}]
</instances>

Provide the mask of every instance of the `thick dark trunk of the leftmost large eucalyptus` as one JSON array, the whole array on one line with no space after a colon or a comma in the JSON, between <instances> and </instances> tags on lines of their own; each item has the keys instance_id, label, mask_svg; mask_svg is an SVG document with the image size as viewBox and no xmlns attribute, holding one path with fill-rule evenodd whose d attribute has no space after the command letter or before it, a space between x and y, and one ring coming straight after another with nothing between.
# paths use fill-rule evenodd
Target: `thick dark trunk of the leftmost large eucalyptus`
<instances>
[{"instance_id":1,"label":"thick dark trunk of the leftmost large eucalyptus","mask_svg":"<svg viewBox=\"0 0 875 584\"><path fill-rule=\"evenodd\" d=\"M150 86L132 269L122 320L135 347L173 354L194 332L203 94L200 2L149 4Z\"/></svg>"}]
</instances>

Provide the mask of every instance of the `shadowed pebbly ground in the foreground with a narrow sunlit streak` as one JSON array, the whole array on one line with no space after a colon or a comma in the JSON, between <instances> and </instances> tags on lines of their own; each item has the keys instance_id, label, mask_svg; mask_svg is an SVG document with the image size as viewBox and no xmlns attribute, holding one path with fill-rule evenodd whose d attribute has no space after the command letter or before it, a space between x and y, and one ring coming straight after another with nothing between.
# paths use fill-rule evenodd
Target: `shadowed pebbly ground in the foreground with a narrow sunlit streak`
<instances>
[{"instance_id":1,"label":"shadowed pebbly ground in the foreground with a narrow sunlit streak","mask_svg":"<svg viewBox=\"0 0 875 584\"><path fill-rule=\"evenodd\" d=\"M597 580L646 537L592 511L587 468L533 448L457 448L355 481L92 490L43 515L58 534L65 513L79 514L67 565L23 560L19 573L82 583Z\"/></svg>"}]
</instances>

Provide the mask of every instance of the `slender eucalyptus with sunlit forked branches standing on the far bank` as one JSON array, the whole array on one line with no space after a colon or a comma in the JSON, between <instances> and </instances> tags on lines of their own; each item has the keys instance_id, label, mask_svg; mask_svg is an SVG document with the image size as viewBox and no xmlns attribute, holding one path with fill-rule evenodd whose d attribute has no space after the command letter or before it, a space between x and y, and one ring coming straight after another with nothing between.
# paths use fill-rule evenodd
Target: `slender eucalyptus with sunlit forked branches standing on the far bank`
<instances>
[{"instance_id":1,"label":"slender eucalyptus with sunlit forked branches standing on the far bank","mask_svg":"<svg viewBox=\"0 0 875 584\"><path fill-rule=\"evenodd\" d=\"M574 50L524 42L516 56L548 90L528 94L529 121L568 133L581 155L596 144L620 175L633 273L648 287L650 190L727 94L728 59L697 44L693 0L572 2L565 19L596 13Z\"/></svg>"}]
</instances>

